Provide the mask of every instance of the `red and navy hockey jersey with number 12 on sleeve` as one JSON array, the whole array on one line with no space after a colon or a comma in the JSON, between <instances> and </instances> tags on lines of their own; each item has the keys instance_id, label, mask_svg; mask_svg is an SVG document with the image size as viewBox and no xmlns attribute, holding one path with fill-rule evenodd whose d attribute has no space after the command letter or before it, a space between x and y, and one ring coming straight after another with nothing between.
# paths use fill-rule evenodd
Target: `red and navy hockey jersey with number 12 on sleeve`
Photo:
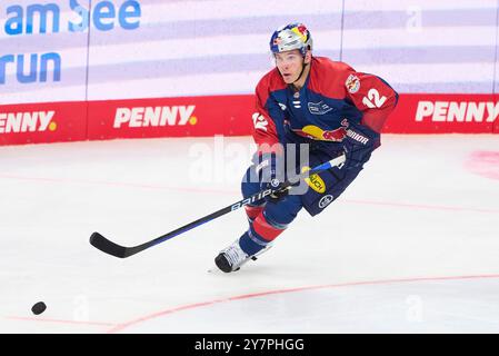
<instances>
[{"instance_id":1,"label":"red and navy hockey jersey with number 12 on sleeve","mask_svg":"<svg viewBox=\"0 0 499 356\"><path fill-rule=\"evenodd\" d=\"M380 132L398 100L397 92L381 78L325 57L312 57L299 91L275 68L259 81L256 95L253 137L260 151L267 145L285 142L287 130L330 142L341 142L347 128L359 125Z\"/></svg>"}]
</instances>

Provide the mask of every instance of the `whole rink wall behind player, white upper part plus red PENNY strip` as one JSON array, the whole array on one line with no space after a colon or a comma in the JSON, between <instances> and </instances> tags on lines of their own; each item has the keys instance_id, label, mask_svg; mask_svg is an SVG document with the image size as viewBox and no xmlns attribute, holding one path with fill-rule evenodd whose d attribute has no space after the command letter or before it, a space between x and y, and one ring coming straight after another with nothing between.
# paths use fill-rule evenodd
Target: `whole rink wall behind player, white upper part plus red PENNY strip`
<instances>
[{"instance_id":1,"label":"whole rink wall behind player, white upper part plus red PENNY strip","mask_svg":"<svg viewBox=\"0 0 499 356\"><path fill-rule=\"evenodd\" d=\"M496 0L0 1L0 145L248 135L275 29L387 80L386 132L498 132Z\"/></svg>"}]
</instances>

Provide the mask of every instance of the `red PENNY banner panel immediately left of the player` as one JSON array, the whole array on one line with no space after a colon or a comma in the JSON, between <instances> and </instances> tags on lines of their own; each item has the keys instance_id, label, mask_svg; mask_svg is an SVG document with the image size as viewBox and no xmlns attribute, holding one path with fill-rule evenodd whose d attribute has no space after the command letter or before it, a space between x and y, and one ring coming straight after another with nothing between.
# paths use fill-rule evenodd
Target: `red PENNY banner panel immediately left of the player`
<instances>
[{"instance_id":1,"label":"red PENNY banner panel immediately left of the player","mask_svg":"<svg viewBox=\"0 0 499 356\"><path fill-rule=\"evenodd\" d=\"M253 103L252 96L91 101L88 138L249 135Z\"/></svg>"}]
</instances>

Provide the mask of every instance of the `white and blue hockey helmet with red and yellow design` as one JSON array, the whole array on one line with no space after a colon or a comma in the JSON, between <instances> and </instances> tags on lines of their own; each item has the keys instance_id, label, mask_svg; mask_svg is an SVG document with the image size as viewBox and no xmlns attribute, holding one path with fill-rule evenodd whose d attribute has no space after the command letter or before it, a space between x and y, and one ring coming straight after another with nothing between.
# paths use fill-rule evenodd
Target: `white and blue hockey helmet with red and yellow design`
<instances>
[{"instance_id":1,"label":"white and blue hockey helmet with red and yellow design","mask_svg":"<svg viewBox=\"0 0 499 356\"><path fill-rule=\"evenodd\" d=\"M276 30L270 38L270 51L279 53L293 49L300 50L305 56L312 50L312 37L303 23L293 22Z\"/></svg>"}]
</instances>

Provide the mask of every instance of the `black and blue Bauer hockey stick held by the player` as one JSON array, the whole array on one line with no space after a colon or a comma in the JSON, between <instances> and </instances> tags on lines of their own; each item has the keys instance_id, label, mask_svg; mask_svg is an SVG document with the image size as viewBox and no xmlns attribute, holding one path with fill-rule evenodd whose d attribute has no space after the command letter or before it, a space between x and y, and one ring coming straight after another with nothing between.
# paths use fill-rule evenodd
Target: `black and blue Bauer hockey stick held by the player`
<instances>
[{"instance_id":1,"label":"black and blue Bauer hockey stick held by the player","mask_svg":"<svg viewBox=\"0 0 499 356\"><path fill-rule=\"evenodd\" d=\"M228 207L224 207L223 209L220 209L218 211L214 211L210 215L207 215L196 221L192 221L188 225L184 225L173 231L170 231L163 236L160 236L158 238L154 238L150 241L147 241L142 245L138 245L138 246L133 246L133 247L124 247L124 246L120 246L118 244L114 244L113 241L107 239L106 237L103 237L102 235L100 235L99 233L93 233L92 236L90 236L90 244L100 249L101 251L108 254L108 255L112 255L119 258L127 258L130 257L132 255L136 255L140 251L143 251L144 249L148 249L149 247L156 246L158 244L161 244L166 240L169 240L170 238L176 237L177 235L183 234L186 231L189 231L190 229L193 229L194 227L198 227L204 222L211 221L222 215L226 215L230 211L237 210L239 208L242 208L243 206L248 205L248 204L252 204L252 202L257 202L261 199L263 199L265 197L275 194L275 192L279 192L279 191L283 191L286 189L288 189L290 186L297 184L298 181L300 181L301 179L305 179L311 175L318 174L320 171L323 171L326 169L329 169L331 167L336 167L336 166L340 166L341 164L345 162L345 155L341 155L337 158L331 159L330 161L327 161L325 164L321 164L308 171L305 171L298 176L296 176L292 180L287 180L281 187L279 187L279 189L266 189L266 190L261 190L255 195L252 195L249 198L239 200L238 202L234 202Z\"/></svg>"}]
</instances>

